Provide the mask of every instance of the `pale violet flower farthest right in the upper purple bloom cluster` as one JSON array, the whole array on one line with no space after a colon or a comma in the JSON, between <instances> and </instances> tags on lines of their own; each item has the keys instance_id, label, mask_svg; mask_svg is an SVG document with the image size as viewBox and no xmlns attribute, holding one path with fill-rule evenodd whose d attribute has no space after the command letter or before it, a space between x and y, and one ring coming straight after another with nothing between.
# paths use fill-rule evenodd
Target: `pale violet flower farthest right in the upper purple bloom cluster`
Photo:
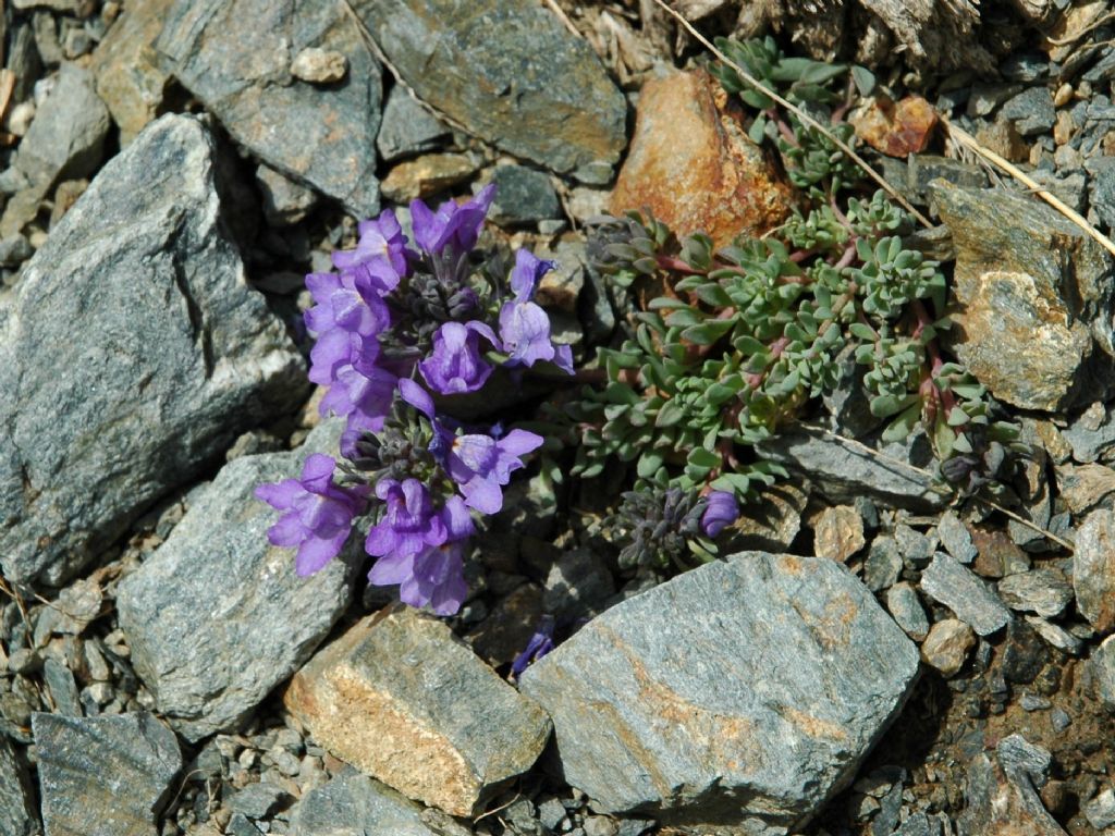
<instances>
[{"instance_id":1,"label":"pale violet flower farthest right in the upper purple bloom cluster","mask_svg":"<svg viewBox=\"0 0 1115 836\"><path fill-rule=\"evenodd\" d=\"M515 299L500 309L500 338L504 351L511 356L507 366L534 366L539 360L549 360L572 375L572 349L553 343L550 317L531 301L539 279L553 269L553 262L542 261L526 250L515 253L515 269L511 273Z\"/></svg>"}]
</instances>

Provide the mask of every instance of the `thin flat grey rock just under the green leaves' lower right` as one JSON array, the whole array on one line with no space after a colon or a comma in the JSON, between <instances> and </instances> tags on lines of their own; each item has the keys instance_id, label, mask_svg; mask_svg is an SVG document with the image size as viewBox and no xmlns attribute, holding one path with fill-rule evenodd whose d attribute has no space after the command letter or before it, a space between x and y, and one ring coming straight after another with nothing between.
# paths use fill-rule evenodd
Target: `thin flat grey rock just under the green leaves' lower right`
<instances>
[{"instance_id":1,"label":"thin flat grey rock just under the green leaves' lower right","mask_svg":"<svg viewBox=\"0 0 1115 836\"><path fill-rule=\"evenodd\" d=\"M917 440L914 440L917 444ZM757 445L759 455L809 479L833 502L869 496L884 505L933 509L944 505L939 489L920 464L906 465L901 447L892 445L883 457L821 430L779 432Z\"/></svg>"}]
</instances>

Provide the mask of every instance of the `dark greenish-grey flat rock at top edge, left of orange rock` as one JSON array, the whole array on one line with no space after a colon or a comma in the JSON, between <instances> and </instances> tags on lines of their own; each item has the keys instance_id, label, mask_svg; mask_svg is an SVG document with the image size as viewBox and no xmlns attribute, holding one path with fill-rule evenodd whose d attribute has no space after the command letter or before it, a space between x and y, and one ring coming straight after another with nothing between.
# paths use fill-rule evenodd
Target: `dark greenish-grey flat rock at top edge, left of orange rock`
<instances>
[{"instance_id":1,"label":"dark greenish-grey flat rock at top edge, left of orange rock","mask_svg":"<svg viewBox=\"0 0 1115 836\"><path fill-rule=\"evenodd\" d=\"M469 133L559 173L588 176L619 159L627 100L549 10L530 0L352 6L407 85Z\"/></svg>"}]
</instances>

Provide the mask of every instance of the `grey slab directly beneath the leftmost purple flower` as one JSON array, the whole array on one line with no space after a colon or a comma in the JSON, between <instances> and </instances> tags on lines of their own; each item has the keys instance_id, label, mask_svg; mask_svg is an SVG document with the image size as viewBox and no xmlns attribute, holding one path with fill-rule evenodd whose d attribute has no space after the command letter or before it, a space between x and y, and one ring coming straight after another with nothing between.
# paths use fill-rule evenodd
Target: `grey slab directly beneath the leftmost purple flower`
<instances>
[{"instance_id":1,"label":"grey slab directly beneath the leftmost purple flower","mask_svg":"<svg viewBox=\"0 0 1115 836\"><path fill-rule=\"evenodd\" d=\"M322 424L293 453L233 459L120 582L116 605L136 673L190 741L240 722L310 658L348 605L350 565L334 560L295 575L293 551L268 543L277 512L252 494L297 477L311 453L336 451L341 428Z\"/></svg>"}]
</instances>

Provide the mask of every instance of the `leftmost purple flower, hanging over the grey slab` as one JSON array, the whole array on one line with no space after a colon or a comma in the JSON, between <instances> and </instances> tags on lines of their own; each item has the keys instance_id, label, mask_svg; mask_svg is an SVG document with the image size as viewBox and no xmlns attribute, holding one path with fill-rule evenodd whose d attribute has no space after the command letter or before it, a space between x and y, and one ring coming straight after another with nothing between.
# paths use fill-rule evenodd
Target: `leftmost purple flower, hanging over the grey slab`
<instances>
[{"instance_id":1,"label":"leftmost purple flower, hanging over the grey slab","mask_svg":"<svg viewBox=\"0 0 1115 836\"><path fill-rule=\"evenodd\" d=\"M337 463L316 453L302 467L301 479L260 485L255 496L285 512L268 529L277 546L298 546L294 571L312 575L338 555L352 529L352 517L363 513L368 488L333 484Z\"/></svg>"}]
</instances>

